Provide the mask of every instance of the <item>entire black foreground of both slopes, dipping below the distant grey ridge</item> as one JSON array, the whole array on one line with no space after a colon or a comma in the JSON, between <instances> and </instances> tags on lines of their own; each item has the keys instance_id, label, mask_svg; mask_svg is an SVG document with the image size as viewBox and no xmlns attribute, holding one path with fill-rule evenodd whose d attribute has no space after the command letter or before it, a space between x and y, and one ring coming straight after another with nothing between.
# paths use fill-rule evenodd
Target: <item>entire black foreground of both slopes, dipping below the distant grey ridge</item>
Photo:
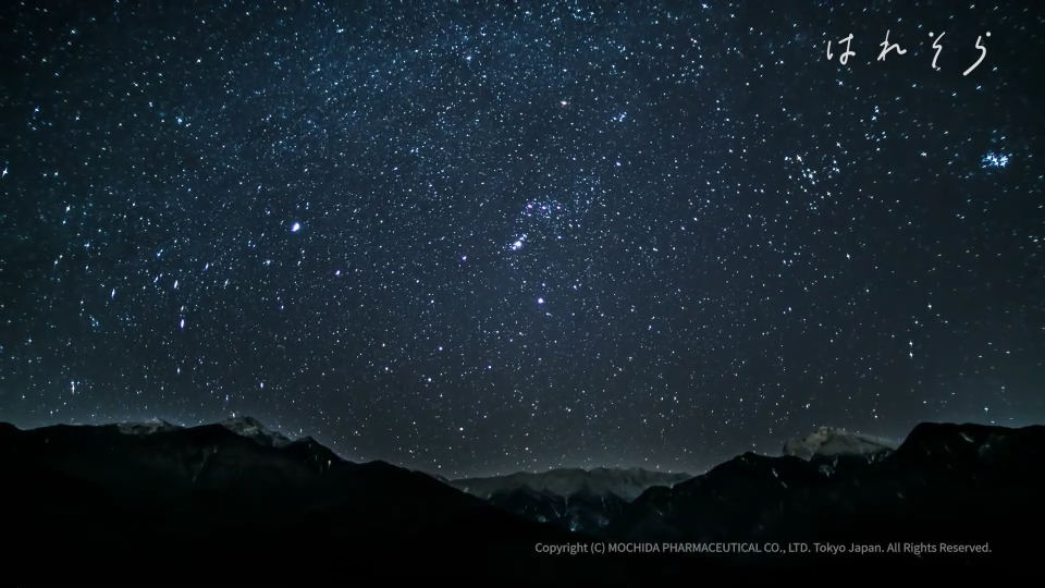
<instances>
[{"instance_id":1,"label":"entire black foreground of both slopes, dipping below the distant grey ridge","mask_svg":"<svg viewBox=\"0 0 1045 588\"><path fill-rule=\"evenodd\" d=\"M0 520L8 577L36 581L630 583L811 565L1023 568L1043 547L1043 455L1045 427L929 424L873 463L746 454L651 488L597 538L425 474L343 461L308 438L275 442L222 425L142 433L0 424ZM546 553L568 544L576 554Z\"/></svg>"}]
</instances>

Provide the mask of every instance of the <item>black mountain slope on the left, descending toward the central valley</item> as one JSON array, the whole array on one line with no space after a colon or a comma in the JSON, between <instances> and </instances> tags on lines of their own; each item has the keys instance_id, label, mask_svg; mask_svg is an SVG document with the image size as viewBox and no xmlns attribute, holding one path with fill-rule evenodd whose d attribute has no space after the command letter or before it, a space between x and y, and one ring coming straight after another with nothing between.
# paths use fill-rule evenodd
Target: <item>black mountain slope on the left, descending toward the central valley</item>
<instances>
[{"instance_id":1,"label":"black mountain slope on the left, descending toward the central valley","mask_svg":"<svg viewBox=\"0 0 1045 588\"><path fill-rule=\"evenodd\" d=\"M9 562L35 561L46 546L67 565L35 567L37 579L128 566L185 579L211 560L206 567L241 579L291 572L545 579L625 573L611 561L537 553L537 543L586 538L427 475L346 462L307 438L272 443L243 424L25 431L0 425L0 520L15 546L5 552Z\"/></svg>"}]
</instances>

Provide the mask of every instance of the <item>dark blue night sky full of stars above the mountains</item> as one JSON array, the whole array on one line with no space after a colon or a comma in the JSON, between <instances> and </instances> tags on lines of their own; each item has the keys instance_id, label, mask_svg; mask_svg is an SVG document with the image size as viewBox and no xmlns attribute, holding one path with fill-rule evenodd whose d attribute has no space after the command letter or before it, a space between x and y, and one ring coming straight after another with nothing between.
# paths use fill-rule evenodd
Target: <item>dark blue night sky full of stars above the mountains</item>
<instances>
[{"instance_id":1,"label":"dark blue night sky full of stars above the mountains","mask_svg":"<svg viewBox=\"0 0 1045 588\"><path fill-rule=\"evenodd\" d=\"M447 477L1042 422L1045 13L911 4L5 3L0 420Z\"/></svg>"}]
</instances>

